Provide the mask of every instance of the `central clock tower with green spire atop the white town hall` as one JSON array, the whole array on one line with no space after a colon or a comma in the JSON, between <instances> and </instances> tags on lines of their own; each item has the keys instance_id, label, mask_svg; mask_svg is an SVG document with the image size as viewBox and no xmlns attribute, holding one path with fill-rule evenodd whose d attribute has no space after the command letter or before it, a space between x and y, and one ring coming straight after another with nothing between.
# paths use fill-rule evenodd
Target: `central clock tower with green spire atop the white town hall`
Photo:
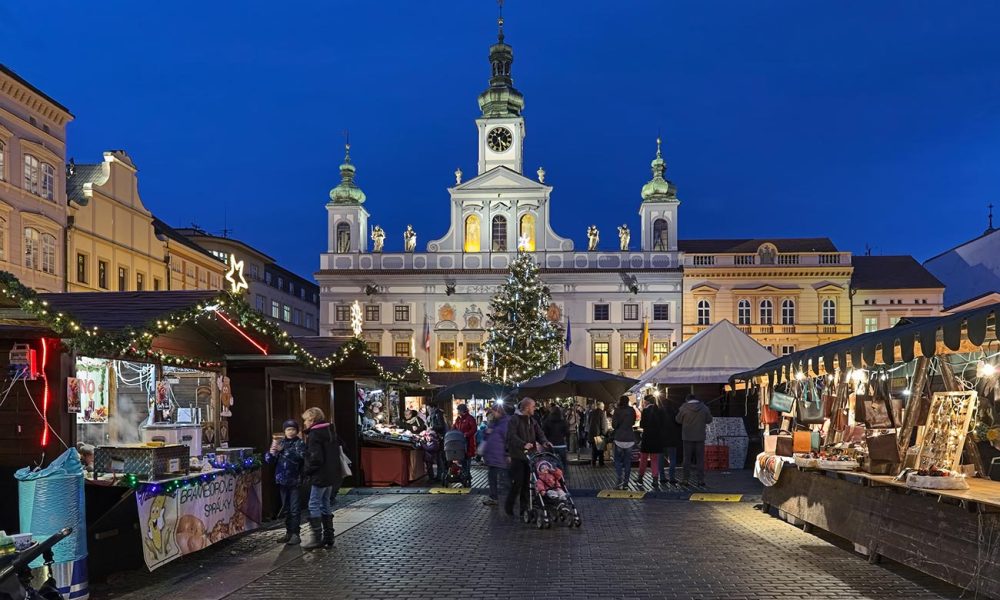
<instances>
[{"instance_id":1,"label":"central clock tower with green spire atop the white town hall","mask_svg":"<svg viewBox=\"0 0 1000 600\"><path fill-rule=\"evenodd\" d=\"M517 173L524 165L524 96L514 88L510 65L514 49L503 41L503 16L497 19L497 43L490 46L490 87L479 94L479 175L495 167Z\"/></svg>"}]
</instances>

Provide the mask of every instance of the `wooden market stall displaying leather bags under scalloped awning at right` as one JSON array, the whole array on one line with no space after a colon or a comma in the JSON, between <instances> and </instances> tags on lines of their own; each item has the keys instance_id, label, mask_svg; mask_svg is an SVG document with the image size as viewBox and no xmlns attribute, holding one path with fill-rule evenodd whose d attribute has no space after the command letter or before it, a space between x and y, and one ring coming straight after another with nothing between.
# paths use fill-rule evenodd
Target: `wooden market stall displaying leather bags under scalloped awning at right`
<instances>
[{"instance_id":1,"label":"wooden market stall displaying leather bags under scalloped awning at right","mask_svg":"<svg viewBox=\"0 0 1000 600\"><path fill-rule=\"evenodd\" d=\"M765 507L1000 597L1000 305L901 322L734 376Z\"/></svg>"}]
</instances>

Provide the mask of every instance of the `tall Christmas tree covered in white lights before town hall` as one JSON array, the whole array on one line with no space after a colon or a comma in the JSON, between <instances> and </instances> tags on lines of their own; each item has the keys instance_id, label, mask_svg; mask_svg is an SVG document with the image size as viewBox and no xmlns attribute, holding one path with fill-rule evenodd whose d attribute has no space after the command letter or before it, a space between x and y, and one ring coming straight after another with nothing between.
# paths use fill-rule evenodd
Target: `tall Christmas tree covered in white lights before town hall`
<instances>
[{"instance_id":1,"label":"tall Christmas tree covered in white lights before town hall","mask_svg":"<svg viewBox=\"0 0 1000 600\"><path fill-rule=\"evenodd\" d=\"M538 265L530 254L519 253L490 301L493 327L483 344L484 379L520 383L559 366L565 338L562 326L548 318L551 303Z\"/></svg>"}]
</instances>

